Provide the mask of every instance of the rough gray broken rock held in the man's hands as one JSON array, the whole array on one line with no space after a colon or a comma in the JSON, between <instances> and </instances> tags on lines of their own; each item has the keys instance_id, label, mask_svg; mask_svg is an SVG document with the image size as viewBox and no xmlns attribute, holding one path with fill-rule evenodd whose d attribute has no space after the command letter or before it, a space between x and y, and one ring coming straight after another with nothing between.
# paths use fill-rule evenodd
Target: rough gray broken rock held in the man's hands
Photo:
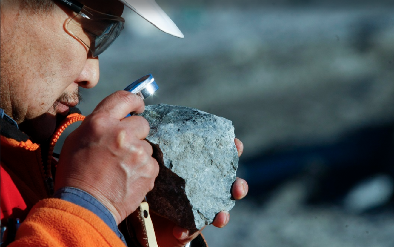
<instances>
[{"instance_id":1,"label":"rough gray broken rock held in the man's hands","mask_svg":"<svg viewBox=\"0 0 394 247\"><path fill-rule=\"evenodd\" d=\"M238 152L232 122L183 106L146 106L139 114L150 124L147 136L160 165L149 207L190 231L212 223L235 204Z\"/></svg>"}]
</instances>

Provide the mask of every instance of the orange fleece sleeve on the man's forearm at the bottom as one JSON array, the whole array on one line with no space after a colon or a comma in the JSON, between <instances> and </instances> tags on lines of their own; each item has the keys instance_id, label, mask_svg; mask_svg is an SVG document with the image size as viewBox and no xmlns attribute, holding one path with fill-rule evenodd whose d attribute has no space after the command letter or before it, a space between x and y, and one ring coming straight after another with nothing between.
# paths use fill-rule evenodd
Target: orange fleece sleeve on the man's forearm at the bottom
<instances>
[{"instance_id":1,"label":"orange fleece sleeve on the man's forearm at the bottom","mask_svg":"<svg viewBox=\"0 0 394 247\"><path fill-rule=\"evenodd\" d=\"M123 241L91 211L61 199L39 201L9 247L115 247Z\"/></svg>"}]
</instances>

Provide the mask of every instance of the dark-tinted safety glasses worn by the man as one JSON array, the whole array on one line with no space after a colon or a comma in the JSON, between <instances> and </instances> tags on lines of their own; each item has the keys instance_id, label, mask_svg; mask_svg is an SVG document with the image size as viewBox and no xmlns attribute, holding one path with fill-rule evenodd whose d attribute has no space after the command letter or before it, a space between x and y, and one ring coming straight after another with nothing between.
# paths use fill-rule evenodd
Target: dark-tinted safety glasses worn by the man
<instances>
[{"instance_id":1,"label":"dark-tinted safety glasses worn by the man","mask_svg":"<svg viewBox=\"0 0 394 247\"><path fill-rule=\"evenodd\" d=\"M80 39L93 58L104 52L123 30L125 19L104 14L74 0L57 0L77 13L66 24L67 30Z\"/></svg>"}]
</instances>

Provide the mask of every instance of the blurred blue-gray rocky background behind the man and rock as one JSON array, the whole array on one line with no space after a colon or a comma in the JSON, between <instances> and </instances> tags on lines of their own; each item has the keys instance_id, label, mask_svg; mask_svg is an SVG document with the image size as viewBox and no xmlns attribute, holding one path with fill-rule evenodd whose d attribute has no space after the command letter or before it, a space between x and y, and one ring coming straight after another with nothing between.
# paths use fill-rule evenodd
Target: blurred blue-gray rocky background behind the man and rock
<instances>
[{"instance_id":1,"label":"blurred blue-gray rocky background behind the man and rock","mask_svg":"<svg viewBox=\"0 0 394 247\"><path fill-rule=\"evenodd\" d=\"M394 2L157 0L185 35L126 10L89 114L152 73L146 104L230 119L249 196L211 247L394 246Z\"/></svg>"}]
</instances>

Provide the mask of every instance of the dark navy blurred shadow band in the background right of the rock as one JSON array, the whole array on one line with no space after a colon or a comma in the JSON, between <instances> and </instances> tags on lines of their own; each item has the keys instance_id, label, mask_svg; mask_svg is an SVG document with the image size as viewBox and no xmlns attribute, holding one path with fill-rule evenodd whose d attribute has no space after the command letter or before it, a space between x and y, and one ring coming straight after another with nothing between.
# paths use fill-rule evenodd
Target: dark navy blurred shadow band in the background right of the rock
<instances>
[{"instance_id":1,"label":"dark navy blurred shadow band in the background right of the rock","mask_svg":"<svg viewBox=\"0 0 394 247\"><path fill-rule=\"evenodd\" d=\"M264 202L283 182L303 177L309 184L307 204L341 205L362 180L379 174L394 178L394 123L365 126L333 143L276 147L242 165L249 199ZM394 208L394 196L381 206Z\"/></svg>"}]
</instances>

